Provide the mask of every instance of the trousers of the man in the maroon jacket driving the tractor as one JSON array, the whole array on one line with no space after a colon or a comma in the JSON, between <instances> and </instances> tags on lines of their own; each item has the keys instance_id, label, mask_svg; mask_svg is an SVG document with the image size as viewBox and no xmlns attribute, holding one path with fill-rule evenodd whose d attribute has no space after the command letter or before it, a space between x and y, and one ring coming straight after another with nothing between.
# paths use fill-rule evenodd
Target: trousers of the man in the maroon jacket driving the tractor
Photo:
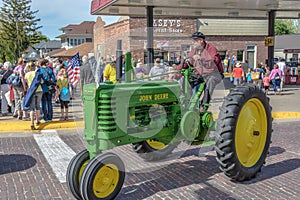
<instances>
[{"instance_id":1,"label":"trousers of the man in the maroon jacket driving the tractor","mask_svg":"<svg viewBox=\"0 0 300 200\"><path fill-rule=\"evenodd\" d=\"M222 77L219 72L213 72L211 74L203 74L202 77L205 82L205 89L204 89L203 98L201 100L201 107L203 107L205 104L209 104L215 87L222 81ZM194 88L196 87L197 86L195 86ZM195 90L195 93L198 91L198 88Z\"/></svg>"}]
</instances>

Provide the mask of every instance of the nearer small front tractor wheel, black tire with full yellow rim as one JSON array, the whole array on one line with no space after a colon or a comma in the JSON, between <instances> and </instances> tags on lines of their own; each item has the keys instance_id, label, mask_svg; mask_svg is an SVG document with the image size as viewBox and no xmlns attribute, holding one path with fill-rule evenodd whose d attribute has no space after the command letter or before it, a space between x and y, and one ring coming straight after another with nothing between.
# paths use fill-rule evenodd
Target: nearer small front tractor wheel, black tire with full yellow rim
<instances>
[{"instance_id":1,"label":"nearer small front tractor wheel, black tire with full yellow rim","mask_svg":"<svg viewBox=\"0 0 300 200\"><path fill-rule=\"evenodd\" d=\"M113 153L99 154L85 167L80 180L80 193L85 200L114 199L121 191L125 166Z\"/></svg>"}]
</instances>

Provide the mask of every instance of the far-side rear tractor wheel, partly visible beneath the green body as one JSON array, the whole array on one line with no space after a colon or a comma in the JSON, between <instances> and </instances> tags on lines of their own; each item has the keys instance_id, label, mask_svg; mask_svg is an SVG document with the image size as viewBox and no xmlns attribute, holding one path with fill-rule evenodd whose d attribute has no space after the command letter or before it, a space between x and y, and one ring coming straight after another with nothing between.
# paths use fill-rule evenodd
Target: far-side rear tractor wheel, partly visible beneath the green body
<instances>
[{"instance_id":1,"label":"far-side rear tractor wheel, partly visible beneath the green body","mask_svg":"<svg viewBox=\"0 0 300 200\"><path fill-rule=\"evenodd\" d=\"M170 155L176 147L176 144L165 145L155 140L146 140L132 144L133 150L147 161L162 160Z\"/></svg>"}]
</instances>

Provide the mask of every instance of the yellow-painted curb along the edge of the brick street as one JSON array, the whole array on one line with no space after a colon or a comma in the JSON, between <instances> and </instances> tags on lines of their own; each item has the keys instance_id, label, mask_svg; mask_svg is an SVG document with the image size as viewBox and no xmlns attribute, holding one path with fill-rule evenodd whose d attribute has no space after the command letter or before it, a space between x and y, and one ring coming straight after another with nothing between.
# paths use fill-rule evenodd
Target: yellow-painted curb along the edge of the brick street
<instances>
[{"instance_id":1,"label":"yellow-painted curb along the edge of the brick street","mask_svg":"<svg viewBox=\"0 0 300 200\"><path fill-rule=\"evenodd\" d=\"M218 115L213 116L216 120ZM300 119L300 112L272 112L273 119ZM76 128L84 128L83 121L59 121L55 120L50 123L41 123L37 126L37 130L30 129L30 121L6 121L0 122L0 132L34 132L38 133L41 130L68 130Z\"/></svg>"}]
</instances>

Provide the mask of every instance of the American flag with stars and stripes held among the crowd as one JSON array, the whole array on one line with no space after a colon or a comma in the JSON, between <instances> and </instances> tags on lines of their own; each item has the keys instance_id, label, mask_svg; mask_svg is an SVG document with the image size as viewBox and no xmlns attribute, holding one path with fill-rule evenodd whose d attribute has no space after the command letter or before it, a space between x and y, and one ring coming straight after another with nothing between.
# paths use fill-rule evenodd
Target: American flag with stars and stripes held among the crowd
<instances>
[{"instance_id":1,"label":"American flag with stars and stripes held among the crowd","mask_svg":"<svg viewBox=\"0 0 300 200\"><path fill-rule=\"evenodd\" d=\"M80 58L79 53L76 53L69 61L67 73L70 83L76 88L80 80Z\"/></svg>"}]
</instances>

